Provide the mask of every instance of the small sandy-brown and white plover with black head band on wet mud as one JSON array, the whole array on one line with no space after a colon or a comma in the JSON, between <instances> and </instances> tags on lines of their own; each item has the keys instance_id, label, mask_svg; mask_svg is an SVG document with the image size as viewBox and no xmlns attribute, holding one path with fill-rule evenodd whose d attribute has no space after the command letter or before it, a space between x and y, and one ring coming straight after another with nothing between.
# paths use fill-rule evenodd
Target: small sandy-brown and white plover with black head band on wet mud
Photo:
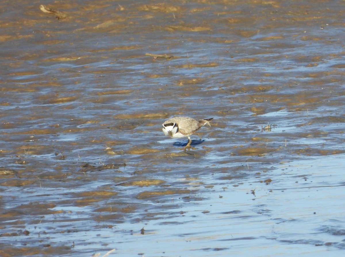
<instances>
[{"instance_id":1,"label":"small sandy-brown and white plover with black head band on wet mud","mask_svg":"<svg viewBox=\"0 0 345 257\"><path fill-rule=\"evenodd\" d=\"M188 143L183 148L186 150L187 148L191 148L190 143L192 140L190 140L190 135L194 134L195 131L205 124L211 126L210 121L212 120L213 118L195 120L189 117L174 117L164 121L162 130L164 134L169 137L188 137Z\"/></svg>"}]
</instances>

